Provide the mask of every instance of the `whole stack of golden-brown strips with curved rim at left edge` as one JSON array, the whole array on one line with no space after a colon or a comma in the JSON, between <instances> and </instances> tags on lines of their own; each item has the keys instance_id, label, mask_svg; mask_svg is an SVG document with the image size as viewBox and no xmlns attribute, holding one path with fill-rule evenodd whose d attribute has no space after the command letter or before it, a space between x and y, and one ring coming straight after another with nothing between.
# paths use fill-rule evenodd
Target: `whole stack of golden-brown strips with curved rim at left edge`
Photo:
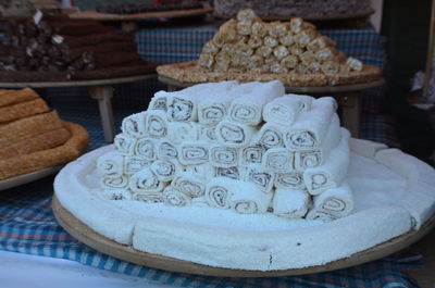
<instances>
[{"instance_id":1,"label":"whole stack of golden-brown strips with curved rim at left edge","mask_svg":"<svg viewBox=\"0 0 435 288\"><path fill-rule=\"evenodd\" d=\"M66 163L88 142L32 89L0 90L0 179Z\"/></svg>"}]
</instances>

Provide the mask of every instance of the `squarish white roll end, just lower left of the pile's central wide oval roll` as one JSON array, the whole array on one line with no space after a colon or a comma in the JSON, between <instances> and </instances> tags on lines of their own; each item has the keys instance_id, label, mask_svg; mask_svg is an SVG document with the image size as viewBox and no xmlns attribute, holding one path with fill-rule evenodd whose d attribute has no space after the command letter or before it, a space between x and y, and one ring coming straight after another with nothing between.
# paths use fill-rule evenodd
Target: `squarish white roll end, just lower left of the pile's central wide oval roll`
<instances>
[{"instance_id":1,"label":"squarish white roll end, just lower left of the pile's central wide oval roll","mask_svg":"<svg viewBox=\"0 0 435 288\"><path fill-rule=\"evenodd\" d=\"M201 164L209 161L210 143L206 141L184 141L178 149L178 161L183 165Z\"/></svg>"}]
</instances>

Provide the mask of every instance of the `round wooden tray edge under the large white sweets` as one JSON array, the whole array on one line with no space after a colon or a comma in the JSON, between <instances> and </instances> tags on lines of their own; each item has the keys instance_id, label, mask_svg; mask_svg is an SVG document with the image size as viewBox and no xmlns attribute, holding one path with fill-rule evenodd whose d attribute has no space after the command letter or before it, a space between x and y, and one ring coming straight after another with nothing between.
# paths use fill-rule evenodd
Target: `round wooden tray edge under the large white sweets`
<instances>
[{"instance_id":1,"label":"round wooden tray edge under the large white sweets","mask_svg":"<svg viewBox=\"0 0 435 288\"><path fill-rule=\"evenodd\" d=\"M386 242L372 247L371 249L358 252L349 258L330 262L324 265L312 266L307 268L293 268L283 271L245 271L211 267L200 265L188 261L182 261L173 258L166 258L150 254L133 249L129 246L117 243L107 237L103 237L83 222L77 220L73 214L65 210L59 200L53 196L53 213L60 225L77 240L83 243L111 256L128 261L135 264L145 265L152 268L166 270L171 272L189 273L204 276L217 277L270 277L270 276L290 276L311 273L320 273L339 268L346 268L359 265L365 262L374 261L397 252L409 245L418 241L427 234L435 225L435 215L426 221L419 229L409 231L399 237L393 238Z\"/></svg>"}]
</instances>

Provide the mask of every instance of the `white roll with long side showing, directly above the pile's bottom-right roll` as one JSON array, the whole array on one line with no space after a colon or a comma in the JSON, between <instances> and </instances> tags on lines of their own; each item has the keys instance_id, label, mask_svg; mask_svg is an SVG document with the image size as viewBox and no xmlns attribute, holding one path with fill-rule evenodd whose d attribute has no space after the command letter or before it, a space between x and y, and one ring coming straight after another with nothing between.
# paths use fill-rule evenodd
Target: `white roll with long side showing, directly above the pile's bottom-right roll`
<instances>
[{"instance_id":1,"label":"white roll with long side showing, directly above the pile's bottom-right roll","mask_svg":"<svg viewBox=\"0 0 435 288\"><path fill-rule=\"evenodd\" d=\"M340 142L331 151L325 163L304 171L303 180L311 195L338 187L346 178L350 162L349 138L349 132L343 129Z\"/></svg>"}]
</instances>

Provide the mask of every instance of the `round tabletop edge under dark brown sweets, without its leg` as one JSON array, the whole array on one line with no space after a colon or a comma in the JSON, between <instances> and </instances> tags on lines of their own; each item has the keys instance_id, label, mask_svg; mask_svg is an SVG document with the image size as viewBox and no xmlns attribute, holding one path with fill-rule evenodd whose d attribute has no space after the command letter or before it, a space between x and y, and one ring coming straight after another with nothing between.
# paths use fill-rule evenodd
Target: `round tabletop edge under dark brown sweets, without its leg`
<instances>
[{"instance_id":1,"label":"round tabletop edge under dark brown sweets, without its leg","mask_svg":"<svg viewBox=\"0 0 435 288\"><path fill-rule=\"evenodd\" d=\"M105 86L139 82L156 77L156 74L146 74L129 77L96 79L96 80L69 80L69 82L0 82L2 88L47 88L47 87L78 87L78 86Z\"/></svg>"}]
</instances>

